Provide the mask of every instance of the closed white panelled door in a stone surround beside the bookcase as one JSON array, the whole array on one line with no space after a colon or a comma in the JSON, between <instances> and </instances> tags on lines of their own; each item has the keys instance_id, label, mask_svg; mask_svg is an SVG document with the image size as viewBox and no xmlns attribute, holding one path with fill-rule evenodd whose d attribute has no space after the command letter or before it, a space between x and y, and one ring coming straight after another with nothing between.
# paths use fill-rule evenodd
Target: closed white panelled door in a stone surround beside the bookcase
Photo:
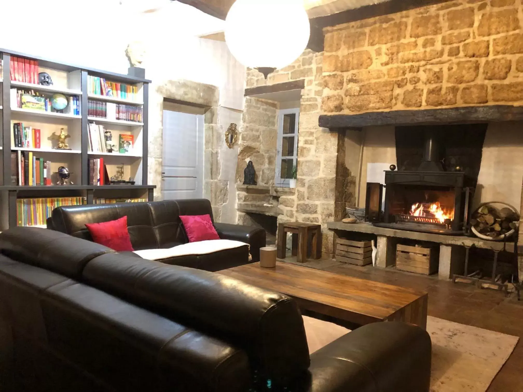
<instances>
[{"instance_id":1,"label":"closed white panelled door in a stone surround beside the bookcase","mask_svg":"<svg viewBox=\"0 0 523 392\"><path fill-rule=\"evenodd\" d=\"M164 200L203 197L203 115L163 112Z\"/></svg>"}]
</instances>

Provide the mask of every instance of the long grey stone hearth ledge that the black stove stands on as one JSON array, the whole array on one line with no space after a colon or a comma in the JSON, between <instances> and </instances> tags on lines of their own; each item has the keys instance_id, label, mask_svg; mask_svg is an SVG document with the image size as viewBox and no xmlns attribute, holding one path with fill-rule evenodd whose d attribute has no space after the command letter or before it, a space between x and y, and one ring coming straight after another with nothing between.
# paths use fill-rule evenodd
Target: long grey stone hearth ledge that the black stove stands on
<instances>
[{"instance_id":1,"label":"long grey stone hearth ledge that the black stove stands on","mask_svg":"<svg viewBox=\"0 0 523 392\"><path fill-rule=\"evenodd\" d=\"M467 236L452 236L431 233L410 232L408 230L397 230L386 227L373 226L370 223L342 223L342 222L328 222L327 227L333 230L345 230L346 232L369 233L385 237L397 237L415 239L418 241L429 241L444 245L474 245L477 248L483 249L506 249L508 252L514 251L514 243L506 243L500 241L487 241L476 237ZM506 248L505 248L506 245Z\"/></svg>"}]
</instances>

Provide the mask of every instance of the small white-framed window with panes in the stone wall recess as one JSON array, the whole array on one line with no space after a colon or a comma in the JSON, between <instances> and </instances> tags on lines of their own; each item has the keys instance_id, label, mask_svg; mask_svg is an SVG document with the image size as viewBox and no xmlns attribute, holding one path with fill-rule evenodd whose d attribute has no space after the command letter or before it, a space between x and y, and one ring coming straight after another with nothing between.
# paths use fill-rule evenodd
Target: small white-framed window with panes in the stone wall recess
<instances>
[{"instance_id":1,"label":"small white-framed window with panes in the stone wall recess","mask_svg":"<svg viewBox=\"0 0 523 392\"><path fill-rule=\"evenodd\" d=\"M300 109L282 109L278 113L277 187L295 187L298 164L298 124Z\"/></svg>"}]
</instances>

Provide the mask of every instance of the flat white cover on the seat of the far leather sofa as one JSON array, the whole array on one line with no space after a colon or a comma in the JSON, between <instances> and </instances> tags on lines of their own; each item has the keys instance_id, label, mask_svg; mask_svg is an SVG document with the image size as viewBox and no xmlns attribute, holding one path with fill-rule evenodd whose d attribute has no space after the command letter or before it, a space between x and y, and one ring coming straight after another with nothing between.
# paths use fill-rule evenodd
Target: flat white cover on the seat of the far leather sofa
<instances>
[{"instance_id":1,"label":"flat white cover on the seat of the far leather sofa","mask_svg":"<svg viewBox=\"0 0 523 392\"><path fill-rule=\"evenodd\" d=\"M248 246L248 244L240 241L232 241L230 239L212 239L207 241L199 241L196 243L188 243L178 245L169 249L145 249L135 250L138 256L146 260L162 260L178 256L191 255L208 255L209 253L219 252L226 249L240 248L241 246Z\"/></svg>"}]
</instances>

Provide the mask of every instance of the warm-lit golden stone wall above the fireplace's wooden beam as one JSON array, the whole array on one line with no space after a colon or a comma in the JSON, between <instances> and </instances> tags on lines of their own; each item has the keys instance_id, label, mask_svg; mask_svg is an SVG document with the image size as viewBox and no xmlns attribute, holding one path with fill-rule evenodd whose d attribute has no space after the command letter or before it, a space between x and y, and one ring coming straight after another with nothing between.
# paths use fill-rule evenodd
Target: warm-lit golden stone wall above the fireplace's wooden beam
<instances>
[{"instance_id":1,"label":"warm-lit golden stone wall above the fireplace's wooden beam","mask_svg":"<svg viewBox=\"0 0 523 392\"><path fill-rule=\"evenodd\" d=\"M523 100L521 0L458 0L325 28L325 114Z\"/></svg>"}]
</instances>

